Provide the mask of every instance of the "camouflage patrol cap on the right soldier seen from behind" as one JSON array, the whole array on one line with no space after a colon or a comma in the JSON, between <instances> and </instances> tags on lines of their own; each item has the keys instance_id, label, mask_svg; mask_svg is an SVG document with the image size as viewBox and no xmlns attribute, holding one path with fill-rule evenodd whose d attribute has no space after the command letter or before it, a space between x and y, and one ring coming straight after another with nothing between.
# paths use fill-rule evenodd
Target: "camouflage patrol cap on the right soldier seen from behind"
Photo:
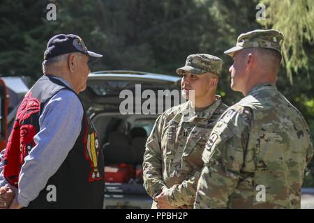
<instances>
[{"instance_id":1,"label":"camouflage patrol cap on the right soldier seen from behind","mask_svg":"<svg viewBox=\"0 0 314 223\"><path fill-rule=\"evenodd\" d=\"M224 53L233 56L235 52L244 48L267 48L275 49L281 53L283 33L275 29L255 29L248 33L242 33L237 40L235 47L226 50Z\"/></svg>"}]
</instances>

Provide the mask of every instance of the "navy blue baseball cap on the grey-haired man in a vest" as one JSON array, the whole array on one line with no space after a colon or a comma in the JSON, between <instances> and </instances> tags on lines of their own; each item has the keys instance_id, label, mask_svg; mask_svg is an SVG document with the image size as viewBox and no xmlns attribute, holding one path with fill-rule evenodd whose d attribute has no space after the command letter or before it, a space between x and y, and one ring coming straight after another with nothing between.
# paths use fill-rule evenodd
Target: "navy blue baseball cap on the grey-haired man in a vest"
<instances>
[{"instance_id":1,"label":"navy blue baseball cap on the grey-haired man in a vest","mask_svg":"<svg viewBox=\"0 0 314 223\"><path fill-rule=\"evenodd\" d=\"M74 34L59 34L52 37L47 43L47 49L44 53L44 60L50 59L61 54L80 52L87 56L100 58L102 54L96 54L87 50L82 38Z\"/></svg>"}]
</instances>

